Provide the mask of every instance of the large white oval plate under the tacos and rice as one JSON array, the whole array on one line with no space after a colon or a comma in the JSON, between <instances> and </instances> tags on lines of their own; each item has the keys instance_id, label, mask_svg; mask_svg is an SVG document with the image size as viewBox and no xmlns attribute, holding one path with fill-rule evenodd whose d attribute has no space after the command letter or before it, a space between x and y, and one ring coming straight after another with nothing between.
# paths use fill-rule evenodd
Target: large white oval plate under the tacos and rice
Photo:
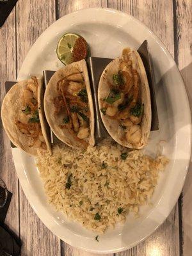
<instances>
[{"instance_id":1,"label":"large white oval plate under the tacos and rice","mask_svg":"<svg viewBox=\"0 0 192 256\"><path fill-rule=\"evenodd\" d=\"M68 221L46 203L45 193L33 157L13 148L13 159L20 184L29 203L44 224L66 243L97 253L120 252L140 243L163 223L182 190L191 152L191 116L180 72L172 56L157 36L133 17L108 8L92 8L70 13L57 20L36 40L29 51L18 80L43 70L63 67L56 56L56 45L63 33L74 32L86 38L92 56L115 58L128 45L138 49L147 39L156 78L160 129L151 132L146 152L155 155L157 143L165 140L163 154L170 164L161 173L152 205L141 207L141 216L128 216L124 225L99 236Z\"/></svg>"}]
</instances>

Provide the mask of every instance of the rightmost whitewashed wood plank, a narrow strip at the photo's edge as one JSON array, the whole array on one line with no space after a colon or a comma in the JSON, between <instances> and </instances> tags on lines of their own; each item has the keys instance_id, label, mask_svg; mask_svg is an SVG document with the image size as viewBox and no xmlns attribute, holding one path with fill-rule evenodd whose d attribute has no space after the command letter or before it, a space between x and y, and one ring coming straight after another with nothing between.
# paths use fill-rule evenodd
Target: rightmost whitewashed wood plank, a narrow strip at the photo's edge
<instances>
[{"instance_id":1,"label":"rightmost whitewashed wood plank, a narrow strip at the photo's edge","mask_svg":"<svg viewBox=\"0 0 192 256\"><path fill-rule=\"evenodd\" d=\"M189 103L192 109L192 58L191 58L191 38L192 38L192 2L190 0L176 1L177 15L177 62L180 72L188 90ZM192 252L192 159L189 165L188 175L182 191L182 253L185 256Z\"/></svg>"}]
</instances>

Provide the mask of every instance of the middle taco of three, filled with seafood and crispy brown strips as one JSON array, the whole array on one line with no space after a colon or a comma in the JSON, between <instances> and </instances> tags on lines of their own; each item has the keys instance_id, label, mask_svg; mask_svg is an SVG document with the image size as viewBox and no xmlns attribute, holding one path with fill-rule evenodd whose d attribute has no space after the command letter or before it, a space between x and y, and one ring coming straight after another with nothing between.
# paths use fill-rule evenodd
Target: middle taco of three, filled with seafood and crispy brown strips
<instances>
[{"instance_id":1,"label":"middle taco of three, filled with seafood and crispy brown strips","mask_svg":"<svg viewBox=\"0 0 192 256\"><path fill-rule=\"evenodd\" d=\"M94 145L94 112L86 61L56 71L44 97L45 116L54 134L70 147Z\"/></svg>"}]
</instances>

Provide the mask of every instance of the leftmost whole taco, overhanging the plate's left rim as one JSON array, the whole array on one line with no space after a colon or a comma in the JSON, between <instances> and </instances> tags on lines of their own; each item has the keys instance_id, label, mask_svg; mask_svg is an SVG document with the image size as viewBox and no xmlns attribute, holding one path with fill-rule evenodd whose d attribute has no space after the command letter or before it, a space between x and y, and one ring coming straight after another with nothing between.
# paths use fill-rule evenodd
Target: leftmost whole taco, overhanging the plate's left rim
<instances>
[{"instance_id":1,"label":"leftmost whole taco, overhanging the plate's left rim","mask_svg":"<svg viewBox=\"0 0 192 256\"><path fill-rule=\"evenodd\" d=\"M42 100L42 79L31 77L12 86L4 97L1 118L12 143L28 154L37 156L38 148L51 154Z\"/></svg>"}]
</instances>

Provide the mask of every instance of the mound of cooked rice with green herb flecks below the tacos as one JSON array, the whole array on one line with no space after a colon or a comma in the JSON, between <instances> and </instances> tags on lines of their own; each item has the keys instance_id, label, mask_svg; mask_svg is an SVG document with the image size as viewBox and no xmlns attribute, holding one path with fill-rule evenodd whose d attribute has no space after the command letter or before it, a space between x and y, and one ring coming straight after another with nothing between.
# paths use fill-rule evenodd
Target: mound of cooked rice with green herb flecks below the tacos
<instances>
[{"instance_id":1,"label":"mound of cooked rice with green herb flecks below the tacos","mask_svg":"<svg viewBox=\"0 0 192 256\"><path fill-rule=\"evenodd\" d=\"M39 152L37 165L48 202L84 227L104 232L125 221L129 211L138 214L167 163L164 156L152 159L106 139L85 152L65 145L55 146L52 156Z\"/></svg>"}]
</instances>

